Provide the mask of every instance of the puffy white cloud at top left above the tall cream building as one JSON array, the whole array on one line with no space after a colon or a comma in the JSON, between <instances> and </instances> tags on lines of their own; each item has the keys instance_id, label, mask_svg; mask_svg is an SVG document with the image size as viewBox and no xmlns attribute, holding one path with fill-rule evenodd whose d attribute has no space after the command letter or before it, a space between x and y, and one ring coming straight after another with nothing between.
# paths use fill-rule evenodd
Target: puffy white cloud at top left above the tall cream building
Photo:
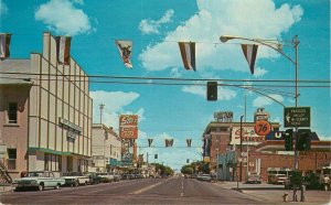
<instances>
[{"instance_id":1,"label":"puffy white cloud at top left above the tall cream building","mask_svg":"<svg viewBox=\"0 0 331 205\"><path fill-rule=\"evenodd\" d=\"M75 1L83 4L83 1ZM35 11L35 20L42 21L51 31L64 35L89 33L94 29L83 10L68 0L51 0L41 4Z\"/></svg>"}]
</instances>

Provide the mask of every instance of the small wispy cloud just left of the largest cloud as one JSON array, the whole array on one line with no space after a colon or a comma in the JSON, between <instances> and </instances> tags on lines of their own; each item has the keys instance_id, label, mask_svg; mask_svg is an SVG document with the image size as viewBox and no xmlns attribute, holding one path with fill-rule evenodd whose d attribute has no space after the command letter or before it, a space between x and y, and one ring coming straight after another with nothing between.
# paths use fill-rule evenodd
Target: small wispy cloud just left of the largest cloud
<instances>
[{"instance_id":1,"label":"small wispy cloud just left of the largest cloud","mask_svg":"<svg viewBox=\"0 0 331 205\"><path fill-rule=\"evenodd\" d=\"M171 22L172 17L173 17L173 10L170 9L167 10L163 17L161 17L161 19L157 21L143 19L139 23L139 30L143 34L153 34L153 33L159 34L161 25Z\"/></svg>"}]
</instances>

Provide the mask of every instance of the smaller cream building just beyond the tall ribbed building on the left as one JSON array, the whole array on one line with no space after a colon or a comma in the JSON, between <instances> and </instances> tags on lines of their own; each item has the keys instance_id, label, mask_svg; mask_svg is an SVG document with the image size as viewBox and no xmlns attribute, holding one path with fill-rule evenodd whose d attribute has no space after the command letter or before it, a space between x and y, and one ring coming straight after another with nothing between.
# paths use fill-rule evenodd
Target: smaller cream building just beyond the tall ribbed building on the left
<instances>
[{"instance_id":1,"label":"smaller cream building just beyond the tall ribbed building on the left","mask_svg":"<svg viewBox=\"0 0 331 205\"><path fill-rule=\"evenodd\" d=\"M118 168L121 159L121 139L113 130L103 123L94 123L92 127L92 158L94 172L110 172Z\"/></svg>"}]
</instances>

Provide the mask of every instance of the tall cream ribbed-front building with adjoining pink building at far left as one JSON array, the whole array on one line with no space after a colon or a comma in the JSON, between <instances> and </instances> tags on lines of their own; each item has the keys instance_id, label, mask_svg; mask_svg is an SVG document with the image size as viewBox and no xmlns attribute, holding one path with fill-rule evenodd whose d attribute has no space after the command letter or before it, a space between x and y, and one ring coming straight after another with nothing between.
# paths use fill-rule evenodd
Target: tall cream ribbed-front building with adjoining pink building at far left
<instances>
[{"instance_id":1,"label":"tall cream ribbed-front building with adjoining pink building at far left","mask_svg":"<svg viewBox=\"0 0 331 205\"><path fill-rule=\"evenodd\" d=\"M73 58L60 64L55 37L44 33L42 54L4 60L0 71L7 77L0 79L1 160L12 177L24 171L87 171L93 100L79 65Z\"/></svg>"}]
</instances>

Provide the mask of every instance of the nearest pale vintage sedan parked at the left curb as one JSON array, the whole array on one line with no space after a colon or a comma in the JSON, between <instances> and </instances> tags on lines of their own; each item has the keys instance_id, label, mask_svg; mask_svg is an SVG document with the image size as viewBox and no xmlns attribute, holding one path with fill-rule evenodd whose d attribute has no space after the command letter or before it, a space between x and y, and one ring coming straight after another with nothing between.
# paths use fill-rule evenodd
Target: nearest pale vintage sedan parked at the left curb
<instances>
[{"instance_id":1,"label":"nearest pale vintage sedan parked at the left curb","mask_svg":"<svg viewBox=\"0 0 331 205\"><path fill-rule=\"evenodd\" d=\"M15 187L15 191L22 188L38 188L39 191L43 191L46 187L58 190L64 183L63 177L55 177L51 171L35 171L28 172L24 177L13 180L12 185Z\"/></svg>"}]
</instances>

